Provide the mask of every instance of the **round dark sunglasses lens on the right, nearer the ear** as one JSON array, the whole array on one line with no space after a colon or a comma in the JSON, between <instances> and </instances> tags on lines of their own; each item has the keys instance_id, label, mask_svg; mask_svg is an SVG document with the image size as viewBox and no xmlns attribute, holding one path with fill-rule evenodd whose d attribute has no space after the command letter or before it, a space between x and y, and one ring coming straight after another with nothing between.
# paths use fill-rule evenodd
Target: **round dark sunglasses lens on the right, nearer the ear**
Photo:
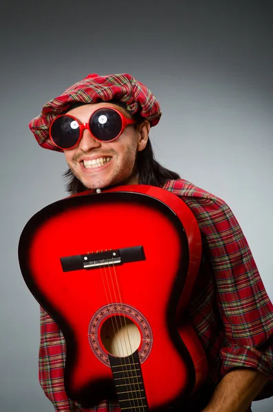
<instances>
[{"instance_id":1,"label":"round dark sunglasses lens on the right, nearer the ear","mask_svg":"<svg viewBox=\"0 0 273 412\"><path fill-rule=\"evenodd\" d=\"M91 133L101 141L111 141L122 129L121 116L111 108L100 108L91 116Z\"/></svg>"}]
</instances>

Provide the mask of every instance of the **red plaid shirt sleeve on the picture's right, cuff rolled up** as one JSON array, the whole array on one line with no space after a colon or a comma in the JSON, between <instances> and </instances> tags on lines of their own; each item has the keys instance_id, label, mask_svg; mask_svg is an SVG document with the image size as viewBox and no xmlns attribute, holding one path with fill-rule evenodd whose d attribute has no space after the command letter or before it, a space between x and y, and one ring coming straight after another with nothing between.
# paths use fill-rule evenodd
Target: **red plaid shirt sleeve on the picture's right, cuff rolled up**
<instances>
[{"instance_id":1,"label":"red plaid shirt sleeve on the picture's right, cuff rolled up","mask_svg":"<svg viewBox=\"0 0 273 412\"><path fill-rule=\"evenodd\" d=\"M197 218L214 272L228 341L221 347L221 375L250 367L273 380L273 307L241 227L219 198L184 201Z\"/></svg>"}]
</instances>

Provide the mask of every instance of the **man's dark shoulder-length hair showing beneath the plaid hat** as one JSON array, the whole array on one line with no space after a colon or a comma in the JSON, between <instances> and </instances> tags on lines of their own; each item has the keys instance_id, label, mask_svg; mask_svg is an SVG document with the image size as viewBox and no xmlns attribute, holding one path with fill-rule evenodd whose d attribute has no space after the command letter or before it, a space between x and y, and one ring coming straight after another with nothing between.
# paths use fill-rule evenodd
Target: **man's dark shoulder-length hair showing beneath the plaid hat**
<instances>
[{"instance_id":1,"label":"man's dark shoulder-length hair showing beneath the plaid hat","mask_svg":"<svg viewBox=\"0 0 273 412\"><path fill-rule=\"evenodd\" d=\"M111 100L111 103L126 108L126 105L123 102ZM73 106L75 107L78 105L80 104L75 104ZM71 110L71 108L69 108L69 110ZM138 122L143 122L143 117L140 117L138 113L136 115L133 115L133 117ZM164 168L162 165L160 165L160 163L158 163L158 161L155 160L155 155L153 153L150 139L148 139L147 141L146 148L144 148L142 152L138 152L136 158L136 168L138 170L138 183L140 185L160 187L167 180L180 179L179 174L173 172L172 170ZM68 169L63 174L63 176L67 181L66 190L70 194L76 194L89 190L87 187L85 187L85 185L83 185L83 183L81 183L80 180L78 180L78 178L72 173L70 169Z\"/></svg>"}]
</instances>

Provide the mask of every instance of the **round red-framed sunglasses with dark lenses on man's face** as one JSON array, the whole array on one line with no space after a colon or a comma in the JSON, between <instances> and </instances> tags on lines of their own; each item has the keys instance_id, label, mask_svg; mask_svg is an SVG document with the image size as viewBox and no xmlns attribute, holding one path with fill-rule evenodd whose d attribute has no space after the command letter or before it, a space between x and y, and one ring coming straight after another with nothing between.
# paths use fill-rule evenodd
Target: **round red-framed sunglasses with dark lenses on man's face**
<instances>
[{"instance_id":1,"label":"round red-framed sunglasses with dark lenses on man's face","mask_svg":"<svg viewBox=\"0 0 273 412\"><path fill-rule=\"evenodd\" d=\"M50 126L50 139L58 148L67 150L78 145L85 129L94 139L109 142L118 139L124 128L135 123L136 120L128 119L116 108L105 106L94 111L88 123L81 123L72 115L57 116Z\"/></svg>"}]
</instances>

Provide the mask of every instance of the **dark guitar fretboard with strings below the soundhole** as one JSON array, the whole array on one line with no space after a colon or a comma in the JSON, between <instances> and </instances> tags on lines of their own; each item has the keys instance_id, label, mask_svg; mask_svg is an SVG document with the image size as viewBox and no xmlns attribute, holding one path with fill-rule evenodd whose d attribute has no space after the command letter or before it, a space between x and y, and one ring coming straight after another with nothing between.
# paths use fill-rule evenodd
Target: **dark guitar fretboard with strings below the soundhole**
<instances>
[{"instance_id":1,"label":"dark guitar fretboard with strings below the soundhole","mask_svg":"<svg viewBox=\"0 0 273 412\"><path fill-rule=\"evenodd\" d=\"M124 358L109 355L109 361L120 410L148 412L138 351Z\"/></svg>"}]
</instances>

